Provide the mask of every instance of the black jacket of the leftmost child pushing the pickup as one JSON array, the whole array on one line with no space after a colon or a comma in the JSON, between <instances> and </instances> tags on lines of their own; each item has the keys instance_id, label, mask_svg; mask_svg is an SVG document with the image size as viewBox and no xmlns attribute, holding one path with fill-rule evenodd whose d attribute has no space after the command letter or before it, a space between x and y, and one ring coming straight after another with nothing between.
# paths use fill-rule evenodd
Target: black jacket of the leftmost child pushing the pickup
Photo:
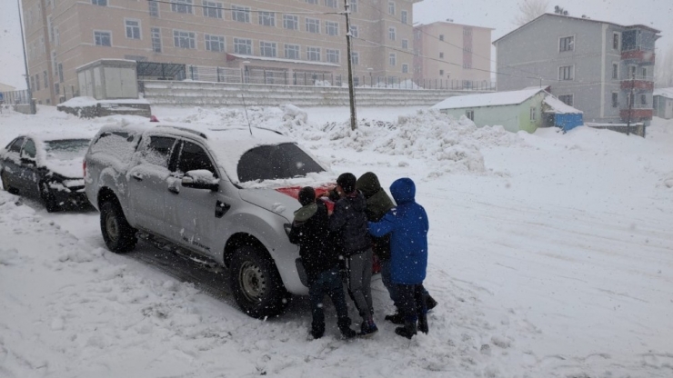
<instances>
[{"instance_id":1,"label":"black jacket of the leftmost child pushing the pickup","mask_svg":"<svg viewBox=\"0 0 673 378\"><path fill-rule=\"evenodd\" d=\"M290 243L299 245L299 256L309 283L338 264L334 244L327 231L327 206L322 201L307 204L295 212Z\"/></svg>"}]
</instances>

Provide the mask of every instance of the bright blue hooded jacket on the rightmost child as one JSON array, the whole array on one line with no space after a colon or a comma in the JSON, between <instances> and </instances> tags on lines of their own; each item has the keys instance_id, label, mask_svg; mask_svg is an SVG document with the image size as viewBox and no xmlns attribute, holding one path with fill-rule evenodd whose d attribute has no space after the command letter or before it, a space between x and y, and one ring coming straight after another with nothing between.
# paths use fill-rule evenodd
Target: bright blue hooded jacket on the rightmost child
<instances>
[{"instance_id":1,"label":"bright blue hooded jacket on the rightmost child","mask_svg":"<svg viewBox=\"0 0 673 378\"><path fill-rule=\"evenodd\" d=\"M395 284L422 284L427 270L426 210L416 203L416 185L400 178L390 185L397 202L380 222L369 223L369 233L390 234L390 275Z\"/></svg>"}]
</instances>

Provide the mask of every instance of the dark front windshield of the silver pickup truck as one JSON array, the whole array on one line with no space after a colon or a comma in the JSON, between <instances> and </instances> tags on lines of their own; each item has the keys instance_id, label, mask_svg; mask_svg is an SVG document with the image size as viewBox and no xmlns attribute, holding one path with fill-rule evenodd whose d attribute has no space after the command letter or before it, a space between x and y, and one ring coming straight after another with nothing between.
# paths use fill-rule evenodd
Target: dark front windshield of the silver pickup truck
<instances>
[{"instance_id":1,"label":"dark front windshield of the silver pickup truck","mask_svg":"<svg viewBox=\"0 0 673 378\"><path fill-rule=\"evenodd\" d=\"M241 183L289 179L325 171L296 144L260 145L248 150L238 161Z\"/></svg>"}]
</instances>

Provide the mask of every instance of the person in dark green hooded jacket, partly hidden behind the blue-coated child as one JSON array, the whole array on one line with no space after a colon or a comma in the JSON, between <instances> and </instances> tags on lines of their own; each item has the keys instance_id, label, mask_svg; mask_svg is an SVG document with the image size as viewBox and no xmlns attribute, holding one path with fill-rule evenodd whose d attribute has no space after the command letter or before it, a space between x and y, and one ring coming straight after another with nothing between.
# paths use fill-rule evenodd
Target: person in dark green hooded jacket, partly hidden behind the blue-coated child
<instances>
[{"instance_id":1,"label":"person in dark green hooded jacket, partly hidden behind the blue-coated child","mask_svg":"<svg viewBox=\"0 0 673 378\"><path fill-rule=\"evenodd\" d=\"M356 189L365 196L367 200L367 221L378 222L388 212L388 210L395 207L395 203L381 187L376 174L367 172L361 175L356 182ZM374 254L377 255L381 262L381 281L386 286L390 299L396 307L396 312L391 315L386 315L386 320L395 324L403 324L405 322L404 314L399 312L397 305L397 293L395 291L395 284L390 279L390 234L383 237L372 237ZM430 310L437 306L437 301L433 299L425 288L427 309Z\"/></svg>"}]
</instances>

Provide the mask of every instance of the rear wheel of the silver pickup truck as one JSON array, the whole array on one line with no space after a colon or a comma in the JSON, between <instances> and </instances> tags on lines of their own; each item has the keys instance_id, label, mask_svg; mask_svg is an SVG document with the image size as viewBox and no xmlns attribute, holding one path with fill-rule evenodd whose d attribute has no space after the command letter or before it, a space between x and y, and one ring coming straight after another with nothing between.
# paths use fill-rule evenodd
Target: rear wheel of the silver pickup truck
<instances>
[{"instance_id":1,"label":"rear wheel of the silver pickup truck","mask_svg":"<svg viewBox=\"0 0 673 378\"><path fill-rule=\"evenodd\" d=\"M100 208L100 229L107 248L122 254L136 247L136 230L126 222L126 216L118 204L107 201Z\"/></svg>"}]
</instances>

